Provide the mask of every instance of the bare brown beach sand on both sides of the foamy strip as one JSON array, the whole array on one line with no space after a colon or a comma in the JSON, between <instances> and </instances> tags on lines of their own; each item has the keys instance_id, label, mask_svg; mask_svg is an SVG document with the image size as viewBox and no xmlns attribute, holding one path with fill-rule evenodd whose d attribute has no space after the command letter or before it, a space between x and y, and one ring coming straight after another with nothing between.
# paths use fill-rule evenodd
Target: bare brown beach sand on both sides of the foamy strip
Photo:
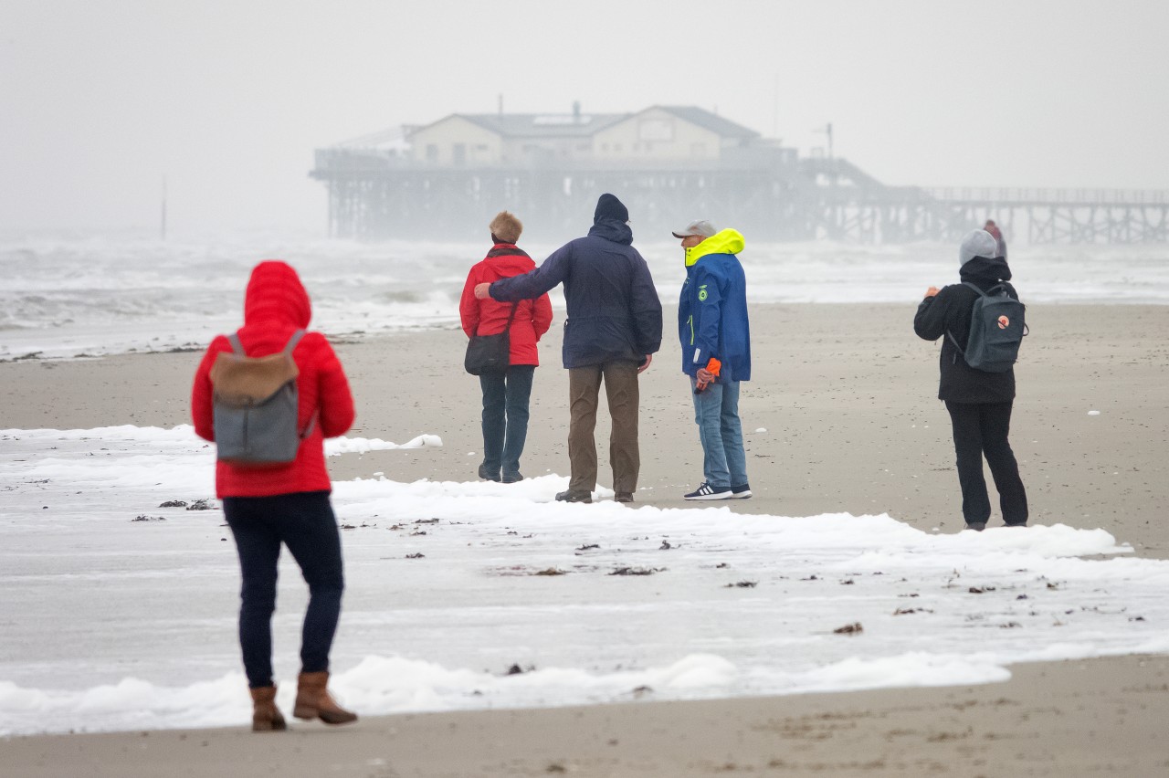
<instances>
[{"instance_id":1,"label":"bare brown beach sand on both sides of the foamy strip","mask_svg":"<svg viewBox=\"0 0 1169 778\"><path fill-rule=\"evenodd\" d=\"M914 303L752 310L755 375L740 410L755 498L721 505L775 515L887 513L925 530L961 528L948 416L935 398L938 347L913 335ZM1028 319L1011 440L1032 523L1102 527L1137 555L1165 558L1169 307L1032 305ZM666 322L663 352L642 377L636 499L693 507L680 495L701 480L701 451L670 311ZM345 456L330 463L334 478L475 477L479 391L461 368L464 343L450 329L338 345L358 401L351 435L403 443L436 433L444 445ZM554 324L540 345L521 466L528 475L568 472L559 350ZM0 364L0 429L184 423L199 356ZM603 485L607 436L606 419L597 429ZM1169 658L1011 669L1010 681L980 687L389 716L340 730L302 724L290 735L20 737L0 741L0 773L1169 774Z\"/></svg>"}]
</instances>

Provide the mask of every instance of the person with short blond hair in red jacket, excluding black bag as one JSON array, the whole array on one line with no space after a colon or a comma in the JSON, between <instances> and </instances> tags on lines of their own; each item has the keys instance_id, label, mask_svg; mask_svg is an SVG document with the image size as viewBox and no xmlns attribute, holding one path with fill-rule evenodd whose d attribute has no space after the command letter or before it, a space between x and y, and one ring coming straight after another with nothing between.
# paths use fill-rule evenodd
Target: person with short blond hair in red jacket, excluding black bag
<instances>
[{"instance_id":1,"label":"person with short blond hair in red jacket, excluding black bag","mask_svg":"<svg viewBox=\"0 0 1169 778\"><path fill-rule=\"evenodd\" d=\"M521 276L535 268L532 257L516 248L524 225L506 210L491 221L494 245L487 256L471 268L463 285L458 313L468 338L493 335L507 327L512 304L490 298L476 299L476 284ZM552 325L552 303L547 294L521 300L511 322L511 366L506 373L479 376L483 389L483 464L479 478L514 484L524 480L519 458L527 439L527 405L532 396L532 377L540 363L535 343Z\"/></svg>"}]
</instances>

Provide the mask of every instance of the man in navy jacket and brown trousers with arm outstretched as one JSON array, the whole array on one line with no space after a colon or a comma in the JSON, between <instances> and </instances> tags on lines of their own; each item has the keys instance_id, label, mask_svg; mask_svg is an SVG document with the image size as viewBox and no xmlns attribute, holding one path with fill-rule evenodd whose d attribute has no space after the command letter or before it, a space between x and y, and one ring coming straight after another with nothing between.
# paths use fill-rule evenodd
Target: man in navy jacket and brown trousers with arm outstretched
<instances>
[{"instance_id":1,"label":"man in navy jacket and brown trousers with arm outstretched","mask_svg":"<svg viewBox=\"0 0 1169 778\"><path fill-rule=\"evenodd\" d=\"M567 502L592 502L596 487L597 398L604 380L613 432L609 461L620 502L632 502L641 454L637 447L637 375L662 347L662 303L645 259L632 246L629 210L611 194L597 200L593 229L556 249L535 270L475 287L477 298L531 300L565 285L563 362L568 370Z\"/></svg>"}]
</instances>

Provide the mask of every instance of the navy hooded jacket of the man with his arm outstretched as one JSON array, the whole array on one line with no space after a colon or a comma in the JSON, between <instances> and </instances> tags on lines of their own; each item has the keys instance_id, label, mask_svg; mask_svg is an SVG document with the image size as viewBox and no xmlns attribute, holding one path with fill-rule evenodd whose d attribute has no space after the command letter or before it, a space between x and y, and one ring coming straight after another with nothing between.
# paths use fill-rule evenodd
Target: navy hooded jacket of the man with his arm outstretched
<instances>
[{"instance_id":1,"label":"navy hooded jacket of the man with his arm outstretched","mask_svg":"<svg viewBox=\"0 0 1169 778\"><path fill-rule=\"evenodd\" d=\"M530 300L563 284L565 368L639 363L662 347L662 303L632 242L628 224L599 216L587 236L556 249L535 270L494 282L491 297Z\"/></svg>"}]
</instances>

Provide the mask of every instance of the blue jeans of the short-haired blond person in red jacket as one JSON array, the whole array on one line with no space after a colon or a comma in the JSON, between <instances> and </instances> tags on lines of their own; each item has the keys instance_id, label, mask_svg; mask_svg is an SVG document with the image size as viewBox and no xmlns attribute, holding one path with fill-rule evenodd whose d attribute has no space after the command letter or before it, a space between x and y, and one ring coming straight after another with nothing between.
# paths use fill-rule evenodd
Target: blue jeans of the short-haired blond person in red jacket
<instances>
[{"instance_id":1,"label":"blue jeans of the short-haired blond person in red jacket","mask_svg":"<svg viewBox=\"0 0 1169 778\"><path fill-rule=\"evenodd\" d=\"M512 364L506 373L479 376L483 388L483 466L492 474L519 472L527 440L527 403L534 364Z\"/></svg>"}]
</instances>

